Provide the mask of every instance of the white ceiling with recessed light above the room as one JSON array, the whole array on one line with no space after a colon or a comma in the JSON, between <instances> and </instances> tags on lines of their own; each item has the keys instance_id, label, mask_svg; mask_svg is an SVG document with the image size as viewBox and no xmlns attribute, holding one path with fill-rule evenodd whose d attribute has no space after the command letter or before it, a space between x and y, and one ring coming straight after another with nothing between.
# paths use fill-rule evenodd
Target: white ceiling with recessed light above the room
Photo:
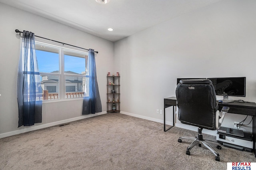
<instances>
[{"instance_id":1,"label":"white ceiling with recessed light above the room","mask_svg":"<svg viewBox=\"0 0 256 170\"><path fill-rule=\"evenodd\" d=\"M219 1L110 0L98 4L95 0L0 0L112 42Z\"/></svg>"}]
</instances>

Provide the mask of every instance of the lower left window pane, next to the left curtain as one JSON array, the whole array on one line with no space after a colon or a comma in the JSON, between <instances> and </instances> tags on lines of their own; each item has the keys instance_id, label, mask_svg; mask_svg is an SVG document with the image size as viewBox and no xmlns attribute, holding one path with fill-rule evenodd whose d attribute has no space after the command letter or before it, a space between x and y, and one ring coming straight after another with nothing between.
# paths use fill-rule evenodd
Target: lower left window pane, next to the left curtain
<instances>
[{"instance_id":1,"label":"lower left window pane, next to the left curtain","mask_svg":"<svg viewBox=\"0 0 256 170\"><path fill-rule=\"evenodd\" d=\"M43 100L59 99L59 76L40 75Z\"/></svg>"}]
</instances>

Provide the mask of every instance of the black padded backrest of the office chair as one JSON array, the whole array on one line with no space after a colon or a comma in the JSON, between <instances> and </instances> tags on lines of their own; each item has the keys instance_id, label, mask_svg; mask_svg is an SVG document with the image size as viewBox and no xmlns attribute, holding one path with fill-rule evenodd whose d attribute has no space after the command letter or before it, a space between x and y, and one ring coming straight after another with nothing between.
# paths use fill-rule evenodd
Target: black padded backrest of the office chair
<instances>
[{"instance_id":1,"label":"black padded backrest of the office chair","mask_svg":"<svg viewBox=\"0 0 256 170\"><path fill-rule=\"evenodd\" d=\"M209 79L180 80L176 87L178 119L181 123L216 130L218 103Z\"/></svg>"}]
</instances>

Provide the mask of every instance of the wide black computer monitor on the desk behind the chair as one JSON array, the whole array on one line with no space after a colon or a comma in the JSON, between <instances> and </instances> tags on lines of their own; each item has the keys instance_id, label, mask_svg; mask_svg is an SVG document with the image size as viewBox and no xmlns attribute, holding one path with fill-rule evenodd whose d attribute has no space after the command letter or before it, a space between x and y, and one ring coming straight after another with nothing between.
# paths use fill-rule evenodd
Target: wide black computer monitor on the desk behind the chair
<instances>
[{"instance_id":1,"label":"wide black computer monitor on the desk behind the chair","mask_svg":"<svg viewBox=\"0 0 256 170\"><path fill-rule=\"evenodd\" d=\"M181 79L199 78L178 78L177 84ZM223 102L232 102L228 100L228 96L245 97L246 95L246 77L218 77L207 79L212 81L216 95L223 96Z\"/></svg>"}]
</instances>

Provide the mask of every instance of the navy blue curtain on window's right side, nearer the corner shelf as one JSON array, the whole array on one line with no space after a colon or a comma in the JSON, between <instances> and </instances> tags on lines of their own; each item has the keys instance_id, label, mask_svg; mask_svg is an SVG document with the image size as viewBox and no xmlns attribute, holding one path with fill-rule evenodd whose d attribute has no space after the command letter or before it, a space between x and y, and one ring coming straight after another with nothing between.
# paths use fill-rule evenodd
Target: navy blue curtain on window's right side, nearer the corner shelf
<instances>
[{"instance_id":1,"label":"navy blue curtain on window's right side, nearer the corner shelf","mask_svg":"<svg viewBox=\"0 0 256 170\"><path fill-rule=\"evenodd\" d=\"M100 93L96 76L96 64L94 49L89 49L87 61L87 73L84 87L84 101L82 115L102 112Z\"/></svg>"}]
</instances>

